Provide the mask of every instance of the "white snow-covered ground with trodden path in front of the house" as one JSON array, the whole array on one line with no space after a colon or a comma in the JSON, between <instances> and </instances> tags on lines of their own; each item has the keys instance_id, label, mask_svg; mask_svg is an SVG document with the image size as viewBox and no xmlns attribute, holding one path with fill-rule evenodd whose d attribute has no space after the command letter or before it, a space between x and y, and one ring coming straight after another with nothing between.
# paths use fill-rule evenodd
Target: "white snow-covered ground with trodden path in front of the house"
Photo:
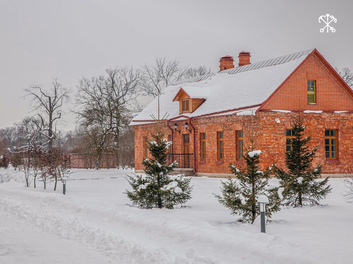
<instances>
[{"instance_id":1,"label":"white snow-covered ground with trodden path in front of the house","mask_svg":"<svg viewBox=\"0 0 353 264\"><path fill-rule=\"evenodd\" d=\"M263 234L217 202L219 178L193 178L187 207L146 210L123 194L131 171L75 171L64 196L0 170L0 263L352 263L340 179L326 206L283 208Z\"/></svg>"}]
</instances>

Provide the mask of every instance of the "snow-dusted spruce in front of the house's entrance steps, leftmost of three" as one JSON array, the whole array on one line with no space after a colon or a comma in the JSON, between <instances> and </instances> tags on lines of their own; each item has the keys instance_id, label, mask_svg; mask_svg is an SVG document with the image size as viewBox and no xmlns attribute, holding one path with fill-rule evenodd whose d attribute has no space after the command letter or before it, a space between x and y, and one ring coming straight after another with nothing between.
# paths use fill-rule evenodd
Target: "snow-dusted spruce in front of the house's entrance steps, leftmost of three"
<instances>
[{"instance_id":1,"label":"snow-dusted spruce in front of the house's entrance steps, leftmost of three","mask_svg":"<svg viewBox=\"0 0 353 264\"><path fill-rule=\"evenodd\" d=\"M177 166L177 162L167 164L168 142L160 128L151 134L148 149L151 158L144 159L146 175L129 176L128 182L132 191L126 190L127 197L133 205L142 208L168 208L183 205L191 198L191 177L185 175L169 175Z\"/></svg>"}]
</instances>

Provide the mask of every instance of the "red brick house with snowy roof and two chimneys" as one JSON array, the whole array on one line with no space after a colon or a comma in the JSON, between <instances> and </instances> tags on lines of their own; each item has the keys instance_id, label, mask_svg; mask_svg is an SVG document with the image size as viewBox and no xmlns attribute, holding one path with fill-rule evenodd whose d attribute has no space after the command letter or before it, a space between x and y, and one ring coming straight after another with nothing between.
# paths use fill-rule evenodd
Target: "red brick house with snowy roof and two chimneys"
<instances>
[{"instance_id":1,"label":"red brick house with snowy roof and two chimneys","mask_svg":"<svg viewBox=\"0 0 353 264\"><path fill-rule=\"evenodd\" d=\"M157 116L157 99L131 125L136 171L148 157L145 141ZM342 176L353 164L353 91L316 50L250 63L250 52L220 59L220 71L173 83L160 95L168 114L165 133L173 141L170 160L197 176L229 175L229 162L243 163L251 131L258 130L261 166L284 167L293 116L305 117L314 165L323 175ZM175 126L175 127L174 127ZM175 129L176 128L176 129Z\"/></svg>"}]
</instances>

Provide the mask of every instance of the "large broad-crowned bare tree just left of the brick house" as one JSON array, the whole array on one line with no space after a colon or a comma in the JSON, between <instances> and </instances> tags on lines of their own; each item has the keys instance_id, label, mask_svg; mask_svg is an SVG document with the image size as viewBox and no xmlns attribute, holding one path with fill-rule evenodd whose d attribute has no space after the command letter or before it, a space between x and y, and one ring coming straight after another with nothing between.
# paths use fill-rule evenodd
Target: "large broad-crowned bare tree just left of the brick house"
<instances>
[{"instance_id":1,"label":"large broad-crowned bare tree just left of the brick house","mask_svg":"<svg viewBox=\"0 0 353 264\"><path fill-rule=\"evenodd\" d=\"M109 135L119 146L121 130L126 130L134 112L134 102L138 96L138 85L141 80L139 70L133 68L114 68L106 70L107 76L100 75L91 79L79 80L76 95L77 122L90 133L90 143L94 143L99 162Z\"/></svg>"}]
</instances>

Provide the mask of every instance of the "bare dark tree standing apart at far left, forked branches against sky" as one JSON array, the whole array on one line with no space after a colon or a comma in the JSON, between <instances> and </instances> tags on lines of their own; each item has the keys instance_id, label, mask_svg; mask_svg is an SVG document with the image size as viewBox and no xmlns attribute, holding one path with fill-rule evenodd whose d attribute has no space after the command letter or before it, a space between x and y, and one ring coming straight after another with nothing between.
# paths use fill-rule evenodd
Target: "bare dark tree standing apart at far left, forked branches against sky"
<instances>
[{"instance_id":1,"label":"bare dark tree standing apart at far left, forked branches against sky","mask_svg":"<svg viewBox=\"0 0 353 264\"><path fill-rule=\"evenodd\" d=\"M67 89L55 78L49 91L44 90L42 85L34 83L28 89L24 89L26 96L31 97L31 105L36 114L41 127L40 133L47 138L49 152L53 149L53 141L56 134L56 126L59 125L61 115L64 114L62 106L67 103L70 98L71 89ZM34 119L35 120L35 119Z\"/></svg>"}]
</instances>

